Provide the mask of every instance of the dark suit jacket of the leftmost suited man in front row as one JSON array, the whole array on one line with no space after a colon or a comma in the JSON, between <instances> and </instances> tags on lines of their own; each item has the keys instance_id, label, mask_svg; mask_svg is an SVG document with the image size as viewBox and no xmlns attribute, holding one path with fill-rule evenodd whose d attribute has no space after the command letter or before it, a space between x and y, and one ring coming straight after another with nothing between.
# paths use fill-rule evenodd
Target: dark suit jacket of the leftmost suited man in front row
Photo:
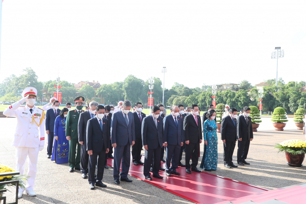
<instances>
[{"instance_id":1,"label":"dark suit jacket of the leftmost suited man in front row","mask_svg":"<svg viewBox=\"0 0 306 204\"><path fill-rule=\"evenodd\" d=\"M87 121L86 127L86 144L87 150L92 150L94 152L100 152L110 148L110 122L106 119L102 119L103 130L99 124L98 118L93 117Z\"/></svg>"}]
</instances>

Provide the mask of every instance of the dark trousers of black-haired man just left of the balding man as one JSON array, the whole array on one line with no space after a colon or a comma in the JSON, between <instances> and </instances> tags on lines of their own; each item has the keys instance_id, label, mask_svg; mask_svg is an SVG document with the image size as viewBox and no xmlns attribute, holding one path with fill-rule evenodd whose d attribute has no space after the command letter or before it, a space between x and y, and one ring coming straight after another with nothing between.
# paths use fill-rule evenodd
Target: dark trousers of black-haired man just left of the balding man
<instances>
[{"instance_id":1,"label":"dark trousers of black-haired man just left of the balding man","mask_svg":"<svg viewBox=\"0 0 306 204\"><path fill-rule=\"evenodd\" d=\"M150 176L151 163L153 161L153 175L159 175L160 146L156 149L144 150L144 176Z\"/></svg>"}]
</instances>

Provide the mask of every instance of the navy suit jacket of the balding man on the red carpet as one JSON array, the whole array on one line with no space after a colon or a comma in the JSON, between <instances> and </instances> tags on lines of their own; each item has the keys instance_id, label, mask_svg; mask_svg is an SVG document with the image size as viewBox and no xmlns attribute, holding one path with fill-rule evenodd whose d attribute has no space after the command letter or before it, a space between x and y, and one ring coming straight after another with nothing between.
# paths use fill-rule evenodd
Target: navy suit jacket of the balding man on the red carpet
<instances>
[{"instance_id":1,"label":"navy suit jacket of the balding man on the red carpet","mask_svg":"<svg viewBox=\"0 0 306 204\"><path fill-rule=\"evenodd\" d=\"M174 118L172 114L167 115L164 117L164 135L166 138L167 144L176 145L179 144L181 146L181 142L184 141L184 137L182 135L183 132L183 125L181 124L181 117L177 116L177 124L176 126Z\"/></svg>"}]
</instances>

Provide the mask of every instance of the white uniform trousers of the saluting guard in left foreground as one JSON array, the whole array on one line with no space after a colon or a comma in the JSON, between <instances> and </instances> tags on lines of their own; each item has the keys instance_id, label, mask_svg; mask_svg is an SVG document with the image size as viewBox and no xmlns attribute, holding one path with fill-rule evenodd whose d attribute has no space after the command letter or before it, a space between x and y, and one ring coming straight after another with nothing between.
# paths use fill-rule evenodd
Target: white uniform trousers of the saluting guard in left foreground
<instances>
[{"instance_id":1,"label":"white uniform trousers of the saluting guard in left foreground","mask_svg":"<svg viewBox=\"0 0 306 204\"><path fill-rule=\"evenodd\" d=\"M37 158L38 158L39 147L16 147L16 171L20 172L20 175L24 174L25 161L28 157L29 171L28 171L28 182L26 187L27 191L33 190L34 181L37 172ZM23 192L25 189L19 187L19 191Z\"/></svg>"}]
</instances>

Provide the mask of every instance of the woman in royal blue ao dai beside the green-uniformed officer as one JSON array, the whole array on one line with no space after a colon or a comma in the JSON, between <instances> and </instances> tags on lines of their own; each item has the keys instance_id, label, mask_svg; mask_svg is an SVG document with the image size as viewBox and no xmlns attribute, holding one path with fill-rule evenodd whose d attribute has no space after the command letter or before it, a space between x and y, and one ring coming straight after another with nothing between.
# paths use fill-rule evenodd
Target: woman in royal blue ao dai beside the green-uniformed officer
<instances>
[{"instance_id":1,"label":"woman in royal blue ao dai beside the green-uniformed officer","mask_svg":"<svg viewBox=\"0 0 306 204\"><path fill-rule=\"evenodd\" d=\"M51 161L57 164L68 163L69 142L66 139L66 116L68 108L63 108L54 124L54 143Z\"/></svg>"}]
</instances>

